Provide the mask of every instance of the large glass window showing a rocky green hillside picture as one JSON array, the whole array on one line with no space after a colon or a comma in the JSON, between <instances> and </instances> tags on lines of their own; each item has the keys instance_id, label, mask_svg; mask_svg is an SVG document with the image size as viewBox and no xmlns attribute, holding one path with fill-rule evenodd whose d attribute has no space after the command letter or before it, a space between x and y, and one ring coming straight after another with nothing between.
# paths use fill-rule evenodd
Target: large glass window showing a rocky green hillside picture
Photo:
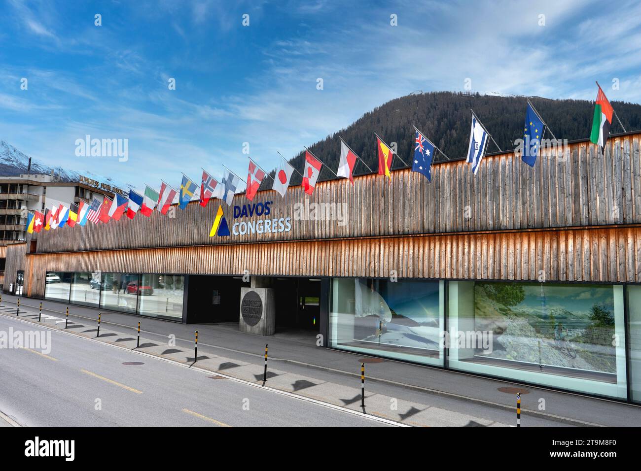
<instances>
[{"instance_id":1,"label":"large glass window showing a rocky green hillside picture","mask_svg":"<svg viewBox=\"0 0 641 471\"><path fill-rule=\"evenodd\" d=\"M623 287L449 283L451 368L626 397Z\"/></svg>"}]
</instances>

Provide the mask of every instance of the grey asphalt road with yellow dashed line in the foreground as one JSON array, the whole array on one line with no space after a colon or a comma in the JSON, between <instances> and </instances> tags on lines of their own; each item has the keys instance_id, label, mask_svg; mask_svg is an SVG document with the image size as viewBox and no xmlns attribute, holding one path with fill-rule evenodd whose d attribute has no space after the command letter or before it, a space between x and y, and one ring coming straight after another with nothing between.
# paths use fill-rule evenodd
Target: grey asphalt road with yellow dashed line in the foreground
<instances>
[{"instance_id":1,"label":"grey asphalt road with yellow dashed line in the foreground","mask_svg":"<svg viewBox=\"0 0 641 471\"><path fill-rule=\"evenodd\" d=\"M0 349L0 411L22 426L387 425L0 316L0 331L10 328L51 333L47 355Z\"/></svg>"}]
</instances>

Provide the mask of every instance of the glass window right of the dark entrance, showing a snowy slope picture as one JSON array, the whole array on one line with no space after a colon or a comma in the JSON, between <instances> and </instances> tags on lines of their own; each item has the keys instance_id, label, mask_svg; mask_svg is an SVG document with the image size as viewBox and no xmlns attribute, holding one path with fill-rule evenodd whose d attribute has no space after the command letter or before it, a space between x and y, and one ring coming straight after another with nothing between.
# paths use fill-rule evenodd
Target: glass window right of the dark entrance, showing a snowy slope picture
<instances>
[{"instance_id":1,"label":"glass window right of the dark entrance, showing a snowy slope picture","mask_svg":"<svg viewBox=\"0 0 641 471\"><path fill-rule=\"evenodd\" d=\"M444 282L334 278L329 345L443 365Z\"/></svg>"}]
</instances>

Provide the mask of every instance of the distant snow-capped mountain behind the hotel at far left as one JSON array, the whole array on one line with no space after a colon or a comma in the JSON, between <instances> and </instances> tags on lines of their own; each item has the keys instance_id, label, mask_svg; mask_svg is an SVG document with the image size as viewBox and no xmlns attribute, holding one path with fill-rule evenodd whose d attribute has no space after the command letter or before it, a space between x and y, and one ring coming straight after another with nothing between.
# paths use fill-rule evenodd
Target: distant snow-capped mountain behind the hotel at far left
<instances>
[{"instance_id":1,"label":"distant snow-capped mountain behind the hotel at far left","mask_svg":"<svg viewBox=\"0 0 641 471\"><path fill-rule=\"evenodd\" d=\"M16 149L5 140L0 140L0 175L14 176L26 174L28 168L29 156ZM49 165L46 165L34 158L31 159L30 172L32 174L38 173L48 175L51 175L51 172L54 172L54 174L60 178L60 181L79 181L79 176L84 175L88 178L100 181L101 183L108 183L108 185L117 186L122 190L131 188L131 186L126 183L115 181L109 177L96 175L94 172L90 172L89 170L77 172L76 170L63 169L62 167L49 167Z\"/></svg>"}]
</instances>

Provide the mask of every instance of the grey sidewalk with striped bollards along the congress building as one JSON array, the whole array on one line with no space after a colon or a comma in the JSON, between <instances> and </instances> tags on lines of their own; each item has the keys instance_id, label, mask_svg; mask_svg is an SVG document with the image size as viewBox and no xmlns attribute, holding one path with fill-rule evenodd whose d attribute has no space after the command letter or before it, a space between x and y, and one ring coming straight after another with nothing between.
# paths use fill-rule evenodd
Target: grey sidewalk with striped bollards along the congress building
<instances>
[{"instance_id":1,"label":"grey sidewalk with striped bollards along the congress building","mask_svg":"<svg viewBox=\"0 0 641 471\"><path fill-rule=\"evenodd\" d=\"M16 297L3 295L0 313L15 313ZM38 311L40 300L21 299L21 311ZM63 327L67 304L42 301L43 314L51 316L48 326ZM194 331L199 331L197 365L251 381L262 381L265 343L269 343L269 378L272 387L309 395L341 406L360 406L360 361L363 354L317 347L309 334L280 333L263 337L240 333L236 326L178 324L165 320L99 311L69 305L70 330L95 336L97 313L102 313L101 340L135 347L135 329L142 322L144 351L176 361L193 361ZM22 317L22 314L21 314ZM56 319L54 319L56 318ZM37 317L28 318L37 321ZM108 336L104 336L103 334ZM174 335L176 345L167 345ZM149 345L145 345L149 344ZM200 358L206 356L208 358ZM393 360L366 363L367 412L412 425L489 426L515 423L515 395L498 388L522 391L524 426L641 426L641 408L554 392L544 388L487 379L439 368L422 367ZM538 400L545 399L545 410ZM395 404L396 408L390 404ZM460 414L461 417L455 417Z\"/></svg>"}]
</instances>

